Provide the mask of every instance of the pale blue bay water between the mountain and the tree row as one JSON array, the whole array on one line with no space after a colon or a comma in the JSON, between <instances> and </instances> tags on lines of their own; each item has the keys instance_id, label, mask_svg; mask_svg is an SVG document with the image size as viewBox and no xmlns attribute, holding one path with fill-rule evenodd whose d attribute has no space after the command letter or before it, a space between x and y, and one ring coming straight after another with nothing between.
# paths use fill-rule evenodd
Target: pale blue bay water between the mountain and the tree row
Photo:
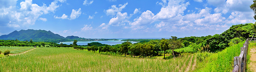
<instances>
[{"instance_id":1,"label":"pale blue bay water between the mountain and the tree row","mask_svg":"<svg viewBox=\"0 0 256 72\"><path fill-rule=\"evenodd\" d=\"M108 45L116 45L116 44L122 44L123 42L125 41L121 41L123 39L161 39L161 38L116 38L116 39L119 39L118 41L114 41L114 40L111 40L111 41L83 41L83 42L77 42L76 44L77 45L87 45L88 43L92 43L92 42L99 42L101 44L108 44ZM165 38L165 39L169 39L169 38ZM73 44L73 42L61 42L63 44ZM132 44L134 43L138 43L138 42L132 42ZM60 43L57 43L57 44L60 44Z\"/></svg>"}]
</instances>

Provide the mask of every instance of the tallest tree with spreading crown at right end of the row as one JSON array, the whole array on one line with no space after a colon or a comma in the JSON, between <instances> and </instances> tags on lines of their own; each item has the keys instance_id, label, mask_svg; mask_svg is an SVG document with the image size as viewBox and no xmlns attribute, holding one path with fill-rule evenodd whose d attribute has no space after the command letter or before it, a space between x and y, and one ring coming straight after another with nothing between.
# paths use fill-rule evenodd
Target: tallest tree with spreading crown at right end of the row
<instances>
[{"instance_id":1,"label":"tallest tree with spreading crown at right end of the row","mask_svg":"<svg viewBox=\"0 0 256 72\"><path fill-rule=\"evenodd\" d=\"M177 40L177 37L176 36L171 36L172 39L170 39L170 42L169 42L169 47L172 49L172 55L173 55L173 58L175 58L175 55L174 55L174 49L179 49L182 47L181 45L181 41L180 40Z\"/></svg>"}]
</instances>

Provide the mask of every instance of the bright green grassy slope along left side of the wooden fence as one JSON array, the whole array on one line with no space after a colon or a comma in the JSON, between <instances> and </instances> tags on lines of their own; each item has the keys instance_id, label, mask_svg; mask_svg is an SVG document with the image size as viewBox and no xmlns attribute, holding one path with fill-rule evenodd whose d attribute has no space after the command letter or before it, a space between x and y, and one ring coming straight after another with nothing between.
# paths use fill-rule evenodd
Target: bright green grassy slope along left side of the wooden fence
<instances>
[{"instance_id":1,"label":"bright green grassy slope along left side of the wooden fence","mask_svg":"<svg viewBox=\"0 0 256 72\"><path fill-rule=\"evenodd\" d=\"M234 57L239 56L243 42L227 47L221 52L214 53L202 62L197 62L195 72L230 72L234 66Z\"/></svg>"}]
</instances>

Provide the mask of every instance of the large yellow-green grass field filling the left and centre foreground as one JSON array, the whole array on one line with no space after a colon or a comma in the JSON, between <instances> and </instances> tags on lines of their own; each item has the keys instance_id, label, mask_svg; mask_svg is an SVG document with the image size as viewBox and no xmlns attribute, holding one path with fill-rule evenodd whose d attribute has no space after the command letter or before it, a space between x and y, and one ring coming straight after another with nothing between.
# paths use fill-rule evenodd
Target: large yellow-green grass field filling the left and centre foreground
<instances>
[{"instance_id":1,"label":"large yellow-green grass field filling the left and centre foreground","mask_svg":"<svg viewBox=\"0 0 256 72\"><path fill-rule=\"evenodd\" d=\"M78 51L73 48L36 48L21 55L0 58L0 71L183 72L190 58L191 55L169 60L142 59Z\"/></svg>"}]
</instances>

